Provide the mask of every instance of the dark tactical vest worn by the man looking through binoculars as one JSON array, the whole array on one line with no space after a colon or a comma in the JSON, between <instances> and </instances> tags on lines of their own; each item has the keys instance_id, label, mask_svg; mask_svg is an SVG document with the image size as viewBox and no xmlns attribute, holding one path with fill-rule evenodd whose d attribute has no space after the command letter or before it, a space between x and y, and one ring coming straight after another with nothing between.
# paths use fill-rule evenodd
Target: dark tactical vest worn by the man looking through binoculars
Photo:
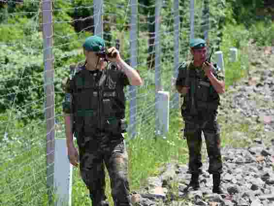
<instances>
[{"instance_id":1,"label":"dark tactical vest worn by the man looking through binoculars","mask_svg":"<svg viewBox=\"0 0 274 206\"><path fill-rule=\"evenodd\" d=\"M125 132L125 94L119 70L108 70L98 86L101 71L90 73L83 67L71 80L76 136L94 136L98 132Z\"/></svg>"}]
</instances>

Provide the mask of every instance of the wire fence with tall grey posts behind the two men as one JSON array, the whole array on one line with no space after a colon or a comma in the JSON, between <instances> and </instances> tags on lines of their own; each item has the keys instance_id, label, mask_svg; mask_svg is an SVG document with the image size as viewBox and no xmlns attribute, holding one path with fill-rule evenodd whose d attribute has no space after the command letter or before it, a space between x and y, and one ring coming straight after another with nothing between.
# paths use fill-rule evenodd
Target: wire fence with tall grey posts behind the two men
<instances>
[{"instance_id":1,"label":"wire fence with tall grey posts behind the two men","mask_svg":"<svg viewBox=\"0 0 274 206\"><path fill-rule=\"evenodd\" d=\"M122 58L144 81L126 89L129 135L157 135L156 94L168 91L178 109L174 78L190 59L190 36L218 47L216 5L191 2L0 1L0 206L43 205L50 196L54 138L64 138L62 81L71 64L84 62L87 36L101 32L108 47L119 40Z\"/></svg>"}]
</instances>

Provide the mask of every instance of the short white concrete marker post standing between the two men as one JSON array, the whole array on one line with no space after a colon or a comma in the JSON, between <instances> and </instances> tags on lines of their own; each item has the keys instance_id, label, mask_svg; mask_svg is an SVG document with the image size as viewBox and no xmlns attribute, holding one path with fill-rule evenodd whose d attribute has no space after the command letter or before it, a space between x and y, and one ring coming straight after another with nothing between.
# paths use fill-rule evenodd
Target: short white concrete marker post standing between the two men
<instances>
[{"instance_id":1,"label":"short white concrete marker post standing between the two men","mask_svg":"<svg viewBox=\"0 0 274 206\"><path fill-rule=\"evenodd\" d=\"M169 130L169 92L159 91L159 130L160 134L164 135Z\"/></svg>"}]
</instances>

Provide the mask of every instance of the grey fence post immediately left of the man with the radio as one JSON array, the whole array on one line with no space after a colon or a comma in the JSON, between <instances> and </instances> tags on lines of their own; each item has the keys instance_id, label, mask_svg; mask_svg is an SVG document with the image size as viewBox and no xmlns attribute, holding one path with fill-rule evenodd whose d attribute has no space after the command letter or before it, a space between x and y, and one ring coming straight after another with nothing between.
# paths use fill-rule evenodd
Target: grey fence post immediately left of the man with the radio
<instances>
[{"instance_id":1,"label":"grey fence post immediately left of the man with the radio","mask_svg":"<svg viewBox=\"0 0 274 206\"><path fill-rule=\"evenodd\" d=\"M179 0L174 0L174 78L177 79L179 67L179 31L180 31L180 16L179 16ZM175 87L175 85L173 85ZM179 94L176 92L173 100L173 108L179 108Z\"/></svg>"}]
</instances>

